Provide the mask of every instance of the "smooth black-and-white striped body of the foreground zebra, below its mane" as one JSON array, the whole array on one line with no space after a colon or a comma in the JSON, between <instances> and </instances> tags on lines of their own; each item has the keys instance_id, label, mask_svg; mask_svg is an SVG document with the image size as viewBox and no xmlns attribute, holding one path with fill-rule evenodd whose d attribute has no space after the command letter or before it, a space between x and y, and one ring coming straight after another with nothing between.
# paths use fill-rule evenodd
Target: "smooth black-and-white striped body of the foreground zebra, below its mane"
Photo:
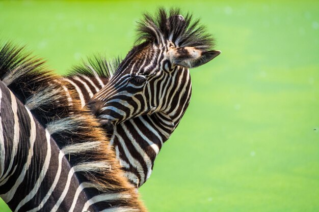
<instances>
[{"instance_id":1,"label":"smooth black-and-white striped body of the foreground zebra, below its mane","mask_svg":"<svg viewBox=\"0 0 319 212\"><path fill-rule=\"evenodd\" d=\"M69 184L63 180L65 178L63 176L69 175L69 170L62 168L68 165L66 158L63 157L63 151L56 149L57 146L50 133L33 117L30 110L16 99L4 83L0 82L0 88L2 110L0 136L4 137L0 139L2 148L0 197L14 211L49 211L51 205L56 205L56 210L68 211L66 203L72 201L78 201L74 210L82 211L86 202L84 193L75 197L75 188L79 185L75 184L74 180ZM53 154L58 160L52 159ZM4 158L8 163L3 160ZM58 165L52 166L50 163ZM57 173L53 181L49 173ZM61 198L62 202L55 204L60 198L51 195L51 192L54 190L61 195L64 191L68 191L64 190L63 186L74 189L68 192L70 196L64 195L64 199ZM46 194L42 198L36 198L40 191ZM25 193L28 195L21 196ZM75 197L74 200L68 198L72 196Z\"/></svg>"}]
</instances>

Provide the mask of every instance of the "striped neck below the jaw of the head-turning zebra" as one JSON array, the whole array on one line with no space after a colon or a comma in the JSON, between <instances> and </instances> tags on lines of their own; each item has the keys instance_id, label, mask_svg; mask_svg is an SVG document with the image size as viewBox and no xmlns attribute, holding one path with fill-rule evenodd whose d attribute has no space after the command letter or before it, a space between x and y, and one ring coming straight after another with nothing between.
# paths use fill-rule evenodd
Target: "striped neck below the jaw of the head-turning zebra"
<instances>
[{"instance_id":1,"label":"striped neck below the jaw of the head-turning zebra","mask_svg":"<svg viewBox=\"0 0 319 212\"><path fill-rule=\"evenodd\" d=\"M114 127L110 145L137 188L150 177L156 156L176 126L163 114L142 115Z\"/></svg>"}]
</instances>

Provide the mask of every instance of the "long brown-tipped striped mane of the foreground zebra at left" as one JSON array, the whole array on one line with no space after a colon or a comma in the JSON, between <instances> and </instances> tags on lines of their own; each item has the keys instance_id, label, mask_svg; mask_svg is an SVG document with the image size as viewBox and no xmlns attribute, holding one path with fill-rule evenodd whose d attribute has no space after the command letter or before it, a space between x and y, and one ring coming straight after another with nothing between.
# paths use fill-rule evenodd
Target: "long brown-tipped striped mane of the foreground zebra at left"
<instances>
[{"instance_id":1,"label":"long brown-tipped striped mane of the foreground zebra at left","mask_svg":"<svg viewBox=\"0 0 319 212\"><path fill-rule=\"evenodd\" d=\"M0 79L56 141L79 183L90 189L86 195L91 198L105 191L121 192L117 201L124 207L144 211L135 189L123 176L115 153L108 147L105 133L89 110L73 97L72 87L67 87L69 96L66 95L64 88L68 85L61 86L59 78L42 59L25 53L24 47L0 45Z\"/></svg>"}]
</instances>

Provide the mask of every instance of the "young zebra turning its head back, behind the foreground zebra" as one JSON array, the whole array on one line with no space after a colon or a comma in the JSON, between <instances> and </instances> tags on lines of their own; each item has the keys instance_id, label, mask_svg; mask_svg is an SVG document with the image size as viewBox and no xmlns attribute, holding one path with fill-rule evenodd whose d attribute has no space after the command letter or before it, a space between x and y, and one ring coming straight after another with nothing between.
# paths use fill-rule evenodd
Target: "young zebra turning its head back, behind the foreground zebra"
<instances>
[{"instance_id":1,"label":"young zebra turning its head back, behind the foreground zebra","mask_svg":"<svg viewBox=\"0 0 319 212\"><path fill-rule=\"evenodd\" d=\"M189 105L189 68L220 54L209 50L214 40L199 20L178 9L144 14L138 32L138 44L121 62L96 56L62 79L75 87L83 106L89 102L137 188L150 177L159 150Z\"/></svg>"}]
</instances>

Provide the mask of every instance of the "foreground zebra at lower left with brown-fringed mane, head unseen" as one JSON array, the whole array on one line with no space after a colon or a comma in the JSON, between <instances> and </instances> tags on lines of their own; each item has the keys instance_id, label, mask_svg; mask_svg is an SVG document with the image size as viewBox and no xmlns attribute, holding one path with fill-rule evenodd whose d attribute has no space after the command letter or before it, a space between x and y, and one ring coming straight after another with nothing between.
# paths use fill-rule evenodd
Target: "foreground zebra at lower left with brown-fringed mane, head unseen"
<instances>
[{"instance_id":1,"label":"foreground zebra at lower left with brown-fringed mane, head unseen","mask_svg":"<svg viewBox=\"0 0 319 212\"><path fill-rule=\"evenodd\" d=\"M13 211L146 211L95 117L57 79L0 46L0 197Z\"/></svg>"}]
</instances>

